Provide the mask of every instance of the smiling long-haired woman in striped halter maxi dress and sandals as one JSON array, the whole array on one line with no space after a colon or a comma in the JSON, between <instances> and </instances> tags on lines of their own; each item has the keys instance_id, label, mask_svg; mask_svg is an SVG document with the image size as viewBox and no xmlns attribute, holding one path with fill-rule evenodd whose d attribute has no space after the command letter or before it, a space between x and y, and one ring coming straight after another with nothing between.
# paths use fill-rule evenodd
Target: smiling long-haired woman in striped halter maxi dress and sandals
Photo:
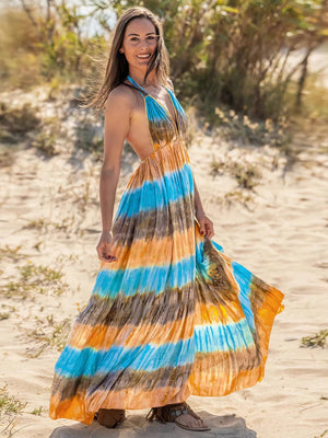
<instances>
[{"instance_id":1,"label":"smiling long-haired woman in striped halter maxi dress and sandals","mask_svg":"<svg viewBox=\"0 0 328 438\"><path fill-rule=\"evenodd\" d=\"M149 420L208 430L187 397L262 379L283 293L211 240L151 11L130 8L118 20L93 103L105 108L101 268L56 364L49 415L116 427L126 408L150 407ZM113 220L125 139L141 162Z\"/></svg>"}]
</instances>

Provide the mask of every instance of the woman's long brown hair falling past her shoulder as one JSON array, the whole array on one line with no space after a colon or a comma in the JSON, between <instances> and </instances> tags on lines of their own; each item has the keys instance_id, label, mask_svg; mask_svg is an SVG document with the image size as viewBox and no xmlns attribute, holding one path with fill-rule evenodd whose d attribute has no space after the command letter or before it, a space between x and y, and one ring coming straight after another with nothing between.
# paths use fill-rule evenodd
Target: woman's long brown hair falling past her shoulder
<instances>
[{"instance_id":1,"label":"woman's long brown hair falling past her shoulder","mask_svg":"<svg viewBox=\"0 0 328 438\"><path fill-rule=\"evenodd\" d=\"M87 104L82 105L83 108L95 106L98 110L97 113L99 113L105 107L110 91L126 79L129 73L129 64L125 54L120 53L119 49L122 45L128 23L133 19L140 18L150 20L155 26L155 32L159 35L157 46L144 74L144 81L149 73L155 69L159 82L163 85L169 85L169 82L167 81L169 74L169 56L164 43L162 22L160 18L149 9L143 7L132 7L127 9L120 15L115 25L112 35L108 61L105 69L105 78L91 101Z\"/></svg>"}]
</instances>

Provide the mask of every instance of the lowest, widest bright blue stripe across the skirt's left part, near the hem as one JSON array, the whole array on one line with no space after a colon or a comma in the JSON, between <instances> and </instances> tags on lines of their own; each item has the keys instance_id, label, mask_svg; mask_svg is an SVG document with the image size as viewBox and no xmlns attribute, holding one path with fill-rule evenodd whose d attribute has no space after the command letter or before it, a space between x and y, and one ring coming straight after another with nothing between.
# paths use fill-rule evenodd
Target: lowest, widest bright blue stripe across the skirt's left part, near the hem
<instances>
[{"instance_id":1,"label":"lowest, widest bright blue stripe across the skirt's left part, near the hem","mask_svg":"<svg viewBox=\"0 0 328 438\"><path fill-rule=\"evenodd\" d=\"M91 347L78 349L67 345L57 360L55 371L67 378L92 377L124 369L151 372L164 367L192 364L194 358L194 337L160 346L147 344L126 348L113 345L108 350Z\"/></svg>"}]
</instances>

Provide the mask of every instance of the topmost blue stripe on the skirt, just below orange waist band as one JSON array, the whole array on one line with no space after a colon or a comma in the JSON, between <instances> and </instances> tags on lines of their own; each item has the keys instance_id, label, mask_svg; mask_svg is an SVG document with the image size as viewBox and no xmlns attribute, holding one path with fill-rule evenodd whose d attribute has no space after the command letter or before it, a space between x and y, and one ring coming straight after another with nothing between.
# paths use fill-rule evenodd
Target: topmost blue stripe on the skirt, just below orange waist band
<instances>
[{"instance_id":1,"label":"topmost blue stripe on the skirt, just below orange waist band","mask_svg":"<svg viewBox=\"0 0 328 438\"><path fill-rule=\"evenodd\" d=\"M144 181L140 187L126 191L120 198L116 218L160 209L192 193L192 172L187 163L178 171L166 172L157 180Z\"/></svg>"}]
</instances>

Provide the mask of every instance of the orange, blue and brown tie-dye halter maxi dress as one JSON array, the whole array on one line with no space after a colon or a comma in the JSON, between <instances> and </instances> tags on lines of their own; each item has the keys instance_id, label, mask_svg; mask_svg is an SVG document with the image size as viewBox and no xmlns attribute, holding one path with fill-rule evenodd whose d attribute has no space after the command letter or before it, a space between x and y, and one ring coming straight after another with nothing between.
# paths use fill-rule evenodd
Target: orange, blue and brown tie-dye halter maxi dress
<instances>
[{"instance_id":1,"label":"orange, blue and brown tie-dye halter maxi dress","mask_svg":"<svg viewBox=\"0 0 328 438\"><path fill-rule=\"evenodd\" d=\"M101 262L87 306L55 366L50 418L90 425L101 408L218 396L263 378L283 293L202 237L185 146L187 116L143 96L153 152L113 221L117 261Z\"/></svg>"}]
</instances>

